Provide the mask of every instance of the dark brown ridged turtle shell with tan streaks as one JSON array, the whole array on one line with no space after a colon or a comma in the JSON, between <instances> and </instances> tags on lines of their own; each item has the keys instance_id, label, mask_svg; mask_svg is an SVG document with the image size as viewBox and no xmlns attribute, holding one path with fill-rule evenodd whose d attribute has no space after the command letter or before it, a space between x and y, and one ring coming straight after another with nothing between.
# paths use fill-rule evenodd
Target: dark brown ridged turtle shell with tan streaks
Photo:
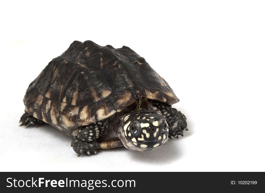
<instances>
[{"instance_id":1,"label":"dark brown ridged turtle shell with tan streaks","mask_svg":"<svg viewBox=\"0 0 265 193\"><path fill-rule=\"evenodd\" d=\"M170 105L179 101L129 47L74 41L30 83L23 101L33 117L71 133L122 111L139 97Z\"/></svg>"}]
</instances>

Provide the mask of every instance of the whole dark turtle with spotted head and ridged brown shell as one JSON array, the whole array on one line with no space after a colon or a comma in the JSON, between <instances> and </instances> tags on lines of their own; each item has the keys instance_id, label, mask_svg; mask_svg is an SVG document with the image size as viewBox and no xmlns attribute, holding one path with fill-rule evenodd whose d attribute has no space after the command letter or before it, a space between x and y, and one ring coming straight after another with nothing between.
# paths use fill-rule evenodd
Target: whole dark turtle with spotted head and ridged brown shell
<instances>
[{"instance_id":1,"label":"whole dark turtle with spotted head and ridged brown shell","mask_svg":"<svg viewBox=\"0 0 265 193\"><path fill-rule=\"evenodd\" d=\"M183 136L184 114L168 83L129 47L74 41L30 83L21 125L47 123L80 155L124 146L154 150Z\"/></svg>"}]
</instances>

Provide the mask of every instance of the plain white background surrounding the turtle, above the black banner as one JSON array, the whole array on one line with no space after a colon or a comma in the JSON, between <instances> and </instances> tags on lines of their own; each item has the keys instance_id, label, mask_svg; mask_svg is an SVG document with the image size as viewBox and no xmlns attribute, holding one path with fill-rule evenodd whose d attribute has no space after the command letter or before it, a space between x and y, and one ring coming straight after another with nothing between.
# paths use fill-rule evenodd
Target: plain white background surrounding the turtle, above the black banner
<instances>
[{"instance_id":1,"label":"plain white background surrounding the turtle, above the black banner","mask_svg":"<svg viewBox=\"0 0 265 193\"><path fill-rule=\"evenodd\" d=\"M2 1L0 171L265 171L263 1ZM189 131L151 152L76 156L19 127L30 82L73 40L129 46L173 88Z\"/></svg>"}]
</instances>

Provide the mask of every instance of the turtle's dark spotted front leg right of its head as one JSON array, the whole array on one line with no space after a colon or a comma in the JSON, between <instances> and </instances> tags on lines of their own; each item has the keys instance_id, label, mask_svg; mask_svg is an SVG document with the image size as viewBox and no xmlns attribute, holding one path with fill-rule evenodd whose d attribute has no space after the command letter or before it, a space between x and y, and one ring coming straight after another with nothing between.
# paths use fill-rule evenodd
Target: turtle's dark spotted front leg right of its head
<instances>
[{"instance_id":1,"label":"turtle's dark spotted front leg right of its head","mask_svg":"<svg viewBox=\"0 0 265 193\"><path fill-rule=\"evenodd\" d=\"M151 101L151 104L158 108L165 117L169 127L168 137L183 136L183 130L188 130L185 115L163 102Z\"/></svg>"}]
</instances>

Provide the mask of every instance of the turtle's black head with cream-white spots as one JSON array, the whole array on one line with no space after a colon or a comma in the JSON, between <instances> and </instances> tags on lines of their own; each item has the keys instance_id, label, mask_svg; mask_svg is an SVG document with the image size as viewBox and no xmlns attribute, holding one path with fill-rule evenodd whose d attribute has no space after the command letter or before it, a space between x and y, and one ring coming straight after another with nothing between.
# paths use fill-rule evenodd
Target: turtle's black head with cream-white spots
<instances>
[{"instance_id":1,"label":"turtle's black head with cream-white spots","mask_svg":"<svg viewBox=\"0 0 265 193\"><path fill-rule=\"evenodd\" d=\"M121 121L119 138L129 150L154 150L167 143L168 125L161 113L132 111L121 117Z\"/></svg>"}]
</instances>

